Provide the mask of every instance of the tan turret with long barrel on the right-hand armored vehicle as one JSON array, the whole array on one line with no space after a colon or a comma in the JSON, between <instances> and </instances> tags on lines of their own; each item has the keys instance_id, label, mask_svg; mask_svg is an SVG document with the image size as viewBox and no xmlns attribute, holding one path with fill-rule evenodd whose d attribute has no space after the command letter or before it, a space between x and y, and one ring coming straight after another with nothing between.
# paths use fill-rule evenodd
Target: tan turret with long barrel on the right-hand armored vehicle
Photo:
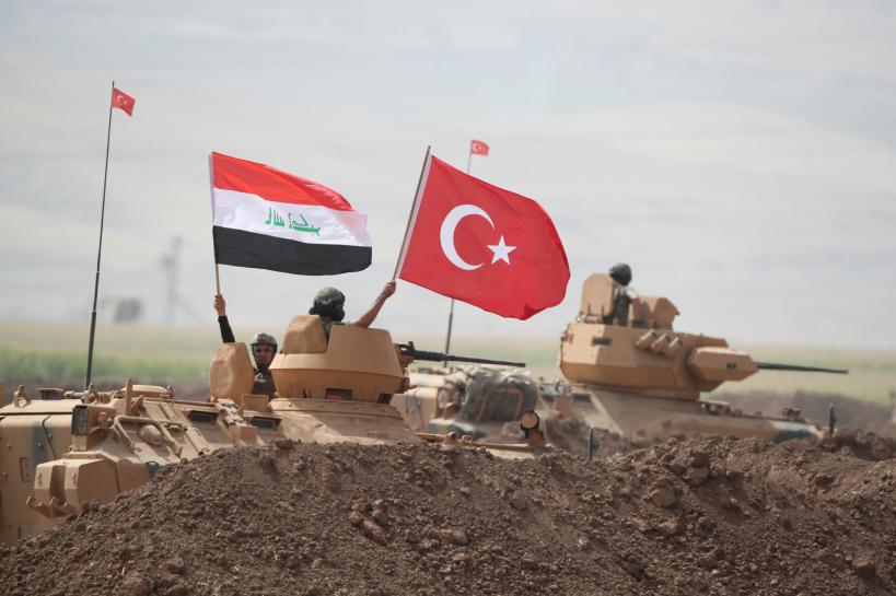
<instances>
[{"instance_id":1,"label":"tan turret with long barrel on the right-hand armored vehicle","mask_svg":"<svg viewBox=\"0 0 896 596\"><path fill-rule=\"evenodd\" d=\"M837 369L756 363L722 338L673 329L678 315L665 297L644 296L633 304L628 325L608 322L615 282L595 273L582 288L575 323L560 341L560 370L573 383L650 397L698 399L726 381L743 381L760 369L845 374Z\"/></svg>"}]
</instances>

